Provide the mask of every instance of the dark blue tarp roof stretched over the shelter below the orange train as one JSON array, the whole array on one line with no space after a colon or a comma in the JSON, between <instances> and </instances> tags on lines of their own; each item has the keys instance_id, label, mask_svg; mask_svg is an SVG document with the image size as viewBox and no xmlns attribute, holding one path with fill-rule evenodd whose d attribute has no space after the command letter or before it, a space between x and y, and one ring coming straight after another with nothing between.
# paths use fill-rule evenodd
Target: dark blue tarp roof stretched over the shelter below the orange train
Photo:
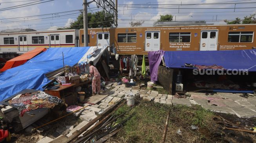
<instances>
[{"instance_id":1,"label":"dark blue tarp roof stretched over the shelter below the orange train","mask_svg":"<svg viewBox=\"0 0 256 143\"><path fill-rule=\"evenodd\" d=\"M165 51L163 57L169 68L187 68L185 63L191 63L206 66L216 64L225 69L250 68L248 71L256 71L256 50Z\"/></svg>"}]
</instances>

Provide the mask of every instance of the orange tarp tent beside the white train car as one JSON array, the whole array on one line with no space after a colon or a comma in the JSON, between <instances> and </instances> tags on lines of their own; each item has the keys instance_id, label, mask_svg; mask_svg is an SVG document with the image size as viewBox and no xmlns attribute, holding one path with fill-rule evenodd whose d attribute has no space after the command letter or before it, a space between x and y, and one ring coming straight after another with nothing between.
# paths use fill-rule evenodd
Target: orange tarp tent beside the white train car
<instances>
[{"instance_id":1,"label":"orange tarp tent beside the white train car","mask_svg":"<svg viewBox=\"0 0 256 143\"><path fill-rule=\"evenodd\" d=\"M29 59L32 59L33 57L40 54L41 52L44 52L45 50L46 50L46 48L35 48L34 50L26 52L23 55L15 57L15 58L7 61L4 65L4 67L2 69L0 69L0 72L3 72L10 68L14 68L16 66L20 66L20 65L26 63Z\"/></svg>"}]
</instances>

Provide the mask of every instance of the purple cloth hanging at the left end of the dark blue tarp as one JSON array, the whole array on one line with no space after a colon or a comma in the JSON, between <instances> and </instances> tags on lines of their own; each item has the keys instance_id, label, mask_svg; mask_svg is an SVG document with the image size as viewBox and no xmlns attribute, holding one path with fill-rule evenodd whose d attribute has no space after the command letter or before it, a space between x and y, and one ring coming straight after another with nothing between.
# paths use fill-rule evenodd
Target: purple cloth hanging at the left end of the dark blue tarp
<instances>
[{"instance_id":1,"label":"purple cloth hanging at the left end of the dark blue tarp","mask_svg":"<svg viewBox=\"0 0 256 143\"><path fill-rule=\"evenodd\" d=\"M150 76L151 81L157 81L157 72L159 64L161 63L163 54L165 51L158 50L158 51L150 51L149 52L149 70L150 70Z\"/></svg>"}]
</instances>

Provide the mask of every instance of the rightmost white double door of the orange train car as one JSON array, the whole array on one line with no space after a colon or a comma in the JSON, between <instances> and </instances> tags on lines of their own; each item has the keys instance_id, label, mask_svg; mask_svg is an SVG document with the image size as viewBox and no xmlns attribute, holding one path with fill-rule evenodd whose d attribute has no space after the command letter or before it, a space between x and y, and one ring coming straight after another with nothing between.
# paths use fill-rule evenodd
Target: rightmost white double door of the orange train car
<instances>
[{"instance_id":1,"label":"rightmost white double door of the orange train car","mask_svg":"<svg viewBox=\"0 0 256 143\"><path fill-rule=\"evenodd\" d=\"M218 30L202 30L200 51L217 50Z\"/></svg>"}]
</instances>

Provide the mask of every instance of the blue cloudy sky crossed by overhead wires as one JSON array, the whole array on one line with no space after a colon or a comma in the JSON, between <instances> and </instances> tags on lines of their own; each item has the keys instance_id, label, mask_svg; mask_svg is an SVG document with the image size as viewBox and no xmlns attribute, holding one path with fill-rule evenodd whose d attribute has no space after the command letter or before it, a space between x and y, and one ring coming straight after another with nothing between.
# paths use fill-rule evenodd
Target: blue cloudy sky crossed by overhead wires
<instances>
[{"instance_id":1,"label":"blue cloudy sky crossed by overhead wires","mask_svg":"<svg viewBox=\"0 0 256 143\"><path fill-rule=\"evenodd\" d=\"M37 4L40 2L42 3ZM80 14L78 10L83 9L82 2L83 0L0 0L0 30L31 28L44 31L69 27ZM245 4L246 2L255 3ZM25 6L28 4L31 5ZM129 27L131 21L144 21L143 27L152 27L154 21L165 14L172 14L173 21L206 20L207 23L225 24L223 20L234 20L236 17L243 19L244 16L256 13L256 8L253 7L256 7L256 0L118 0L118 27ZM102 9L96 7L96 2L89 4L88 13L99 10Z\"/></svg>"}]
</instances>

